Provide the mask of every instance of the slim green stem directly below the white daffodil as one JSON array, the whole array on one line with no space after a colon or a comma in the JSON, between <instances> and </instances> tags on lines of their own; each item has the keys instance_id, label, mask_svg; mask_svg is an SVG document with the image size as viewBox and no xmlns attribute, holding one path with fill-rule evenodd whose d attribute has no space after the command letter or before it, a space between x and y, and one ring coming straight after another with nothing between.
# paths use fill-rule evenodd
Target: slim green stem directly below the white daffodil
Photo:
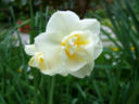
<instances>
[{"instance_id":1,"label":"slim green stem directly below the white daffodil","mask_svg":"<svg viewBox=\"0 0 139 104\"><path fill-rule=\"evenodd\" d=\"M50 93L49 93L49 104L53 104L54 81L55 81L55 78L52 77L51 86L50 86Z\"/></svg>"}]
</instances>

